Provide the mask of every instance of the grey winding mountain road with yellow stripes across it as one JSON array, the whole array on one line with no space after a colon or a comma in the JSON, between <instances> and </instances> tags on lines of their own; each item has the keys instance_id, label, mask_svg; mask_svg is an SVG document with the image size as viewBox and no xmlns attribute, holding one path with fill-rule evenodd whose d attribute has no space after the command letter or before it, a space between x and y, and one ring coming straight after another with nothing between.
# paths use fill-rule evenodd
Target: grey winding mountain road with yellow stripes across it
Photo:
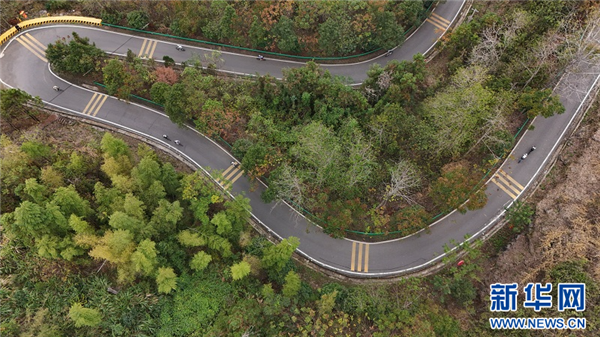
<instances>
[{"instance_id":1,"label":"grey winding mountain road with yellow stripes across it","mask_svg":"<svg viewBox=\"0 0 600 337\"><path fill-rule=\"evenodd\" d=\"M353 83L366 78L368 68L377 62L391 59L411 59L415 53L425 53L445 32L460 12L463 1L447 1L439 4L432 17L426 21L394 54L385 59L344 65L323 65L335 75L348 76ZM442 19L439 19L439 18ZM435 23L435 24L434 24ZM443 24L447 23L446 26ZM385 242L366 243L349 239L334 239L300 216L285 203L265 204L260 199L264 186L251 189L250 181L231 165L234 160L213 141L191 128L178 128L163 113L136 104L127 104L113 97L82 88L58 78L51 72L44 50L49 43L76 31L107 53L125 55L131 49L139 56L162 59L169 55L177 62L189 59L192 54L202 55L206 49L186 46L178 52L174 44L154 39L112 32L93 27L73 25L48 25L23 30L13 37L0 54L0 81L7 86L20 88L42 98L46 104L73 113L85 115L106 124L151 138L171 146L205 171L220 170L232 183L231 193L244 193L250 198L254 218L279 238L295 236L300 239L298 252L311 262L339 274L358 277L389 277L421 270L439 262L444 255L444 245L451 241L462 242L466 235L479 237L490 229L503 215L505 207L512 204L540 174L551 154L562 139L568 126L581 110L584 97L563 95L561 101L566 112L547 119L536 119L535 130L527 131L514 152L519 157L531 146L537 150L526 161L517 164L511 156L501 169L487 182L487 205L466 214L453 212L433 224L428 233L418 234ZM266 74L281 77L285 67L301 66L301 63L269 59L259 62L252 56L224 52L220 69L240 74ZM600 70L598 71L600 73ZM598 77L578 80L586 88L585 98L592 93ZM52 90L54 85L63 90ZM179 139L182 146L165 141L161 135L168 134ZM221 183L219 181L219 183Z\"/></svg>"}]
</instances>

